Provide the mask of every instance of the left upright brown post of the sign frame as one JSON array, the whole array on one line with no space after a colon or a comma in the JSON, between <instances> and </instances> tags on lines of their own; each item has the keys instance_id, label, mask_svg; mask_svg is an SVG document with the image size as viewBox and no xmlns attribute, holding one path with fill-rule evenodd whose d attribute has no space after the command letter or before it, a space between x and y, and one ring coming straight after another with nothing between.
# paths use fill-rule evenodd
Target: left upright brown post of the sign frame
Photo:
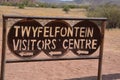
<instances>
[{"instance_id":1,"label":"left upright brown post of the sign frame","mask_svg":"<svg viewBox=\"0 0 120 80\"><path fill-rule=\"evenodd\" d=\"M1 55L1 79L4 80L5 74L5 54L6 54L6 18L3 16L3 33L2 33L2 55Z\"/></svg>"}]
</instances>

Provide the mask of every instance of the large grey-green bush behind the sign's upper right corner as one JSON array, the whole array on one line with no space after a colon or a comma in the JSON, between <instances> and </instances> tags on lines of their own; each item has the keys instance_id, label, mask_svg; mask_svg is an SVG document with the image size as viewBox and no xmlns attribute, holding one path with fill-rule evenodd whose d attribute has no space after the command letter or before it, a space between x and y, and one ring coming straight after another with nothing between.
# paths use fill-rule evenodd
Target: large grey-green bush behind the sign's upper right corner
<instances>
[{"instance_id":1,"label":"large grey-green bush behind the sign's upper right corner","mask_svg":"<svg viewBox=\"0 0 120 80\"><path fill-rule=\"evenodd\" d=\"M88 9L88 17L108 18L107 28L120 28L120 7L106 4Z\"/></svg>"}]
</instances>

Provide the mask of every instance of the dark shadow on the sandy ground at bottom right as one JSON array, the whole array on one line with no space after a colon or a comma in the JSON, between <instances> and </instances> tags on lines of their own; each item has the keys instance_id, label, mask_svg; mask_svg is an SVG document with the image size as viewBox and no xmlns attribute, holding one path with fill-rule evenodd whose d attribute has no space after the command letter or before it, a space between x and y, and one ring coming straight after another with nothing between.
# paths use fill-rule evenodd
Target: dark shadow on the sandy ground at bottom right
<instances>
[{"instance_id":1,"label":"dark shadow on the sandy ground at bottom right","mask_svg":"<svg viewBox=\"0 0 120 80\"><path fill-rule=\"evenodd\" d=\"M102 79L103 80L120 80L120 73L103 75ZM97 80L97 76L71 78L71 79L65 79L65 80Z\"/></svg>"}]
</instances>

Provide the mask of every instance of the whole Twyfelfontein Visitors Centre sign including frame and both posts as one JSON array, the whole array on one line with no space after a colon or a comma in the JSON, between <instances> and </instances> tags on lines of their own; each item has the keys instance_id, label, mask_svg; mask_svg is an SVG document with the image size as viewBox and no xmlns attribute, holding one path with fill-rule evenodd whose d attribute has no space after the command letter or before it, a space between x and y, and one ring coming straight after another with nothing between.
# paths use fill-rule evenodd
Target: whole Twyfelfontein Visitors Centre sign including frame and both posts
<instances>
[{"instance_id":1,"label":"whole Twyfelfontein Visitors Centre sign including frame and both posts","mask_svg":"<svg viewBox=\"0 0 120 80\"><path fill-rule=\"evenodd\" d=\"M8 30L7 22L9 22L9 19L18 19L18 21ZM41 24L39 20L49 20L49 22ZM76 22L70 25L67 20ZM106 18L3 15L0 80L5 80L6 63L88 59L99 60L97 80L102 80L101 70L106 20ZM98 27L94 21L100 21L102 24ZM6 46L8 46L12 54L21 59L6 59L8 58L6 57ZM89 56L98 49L98 56ZM62 57L68 51L72 51L77 57ZM51 58L33 58L41 52L44 52ZM85 55L86 57L81 55Z\"/></svg>"}]
</instances>

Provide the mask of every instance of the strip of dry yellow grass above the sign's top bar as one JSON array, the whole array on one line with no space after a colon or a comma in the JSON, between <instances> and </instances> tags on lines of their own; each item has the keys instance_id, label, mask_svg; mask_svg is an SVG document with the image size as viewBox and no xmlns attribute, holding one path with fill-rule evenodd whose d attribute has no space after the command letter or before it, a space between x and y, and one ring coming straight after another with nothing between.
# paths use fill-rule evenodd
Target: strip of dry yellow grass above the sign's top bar
<instances>
[{"instance_id":1,"label":"strip of dry yellow grass above the sign's top bar","mask_svg":"<svg viewBox=\"0 0 120 80\"><path fill-rule=\"evenodd\" d=\"M30 15L30 16L66 16L66 17L85 17L84 9L71 9L68 14L62 8L29 8L18 9L17 7L0 6L0 16L2 14Z\"/></svg>"}]
</instances>

